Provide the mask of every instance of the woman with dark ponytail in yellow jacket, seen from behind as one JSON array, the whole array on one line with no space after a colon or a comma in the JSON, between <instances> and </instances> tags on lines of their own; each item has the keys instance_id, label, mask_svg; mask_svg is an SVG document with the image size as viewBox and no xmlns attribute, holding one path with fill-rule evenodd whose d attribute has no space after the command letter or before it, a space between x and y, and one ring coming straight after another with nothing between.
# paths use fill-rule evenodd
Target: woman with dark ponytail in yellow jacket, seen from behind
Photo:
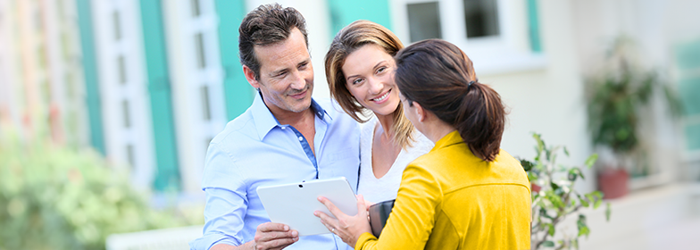
<instances>
[{"instance_id":1,"label":"woman with dark ponytail in yellow jacket, seen from behind","mask_svg":"<svg viewBox=\"0 0 700 250\"><path fill-rule=\"evenodd\" d=\"M404 113L435 147L406 167L379 239L364 209L347 216L320 197L338 219L316 215L355 249L529 249L529 181L500 149L501 97L446 41L424 40L395 58Z\"/></svg>"}]
</instances>

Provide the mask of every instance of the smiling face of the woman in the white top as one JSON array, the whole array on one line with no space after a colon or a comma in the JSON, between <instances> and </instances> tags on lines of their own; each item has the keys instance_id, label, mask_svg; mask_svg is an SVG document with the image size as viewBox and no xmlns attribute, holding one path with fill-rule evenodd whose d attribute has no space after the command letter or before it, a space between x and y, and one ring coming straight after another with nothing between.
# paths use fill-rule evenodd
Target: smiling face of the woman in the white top
<instances>
[{"instance_id":1,"label":"smiling face of the woman in the white top","mask_svg":"<svg viewBox=\"0 0 700 250\"><path fill-rule=\"evenodd\" d=\"M363 107L377 115L389 115L399 104L394 84L396 63L376 45L365 45L348 54L343 64L346 87Z\"/></svg>"}]
</instances>

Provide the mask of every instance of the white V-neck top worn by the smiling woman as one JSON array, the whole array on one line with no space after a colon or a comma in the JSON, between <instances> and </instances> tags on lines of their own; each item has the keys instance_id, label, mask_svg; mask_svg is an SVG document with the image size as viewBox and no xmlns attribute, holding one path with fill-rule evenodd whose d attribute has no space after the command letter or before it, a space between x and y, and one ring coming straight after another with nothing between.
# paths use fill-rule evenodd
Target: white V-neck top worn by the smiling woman
<instances>
[{"instance_id":1,"label":"white V-neck top worn by the smiling woman","mask_svg":"<svg viewBox=\"0 0 700 250\"><path fill-rule=\"evenodd\" d=\"M377 179L371 165L372 140L377 122L379 122L377 116L373 116L370 121L361 125L360 132L360 179L357 184L357 194L364 196L364 199L371 203L396 199L406 165L418 156L428 153L435 146L428 137L414 130L415 141L412 142L412 146L402 149L387 174Z\"/></svg>"}]
</instances>

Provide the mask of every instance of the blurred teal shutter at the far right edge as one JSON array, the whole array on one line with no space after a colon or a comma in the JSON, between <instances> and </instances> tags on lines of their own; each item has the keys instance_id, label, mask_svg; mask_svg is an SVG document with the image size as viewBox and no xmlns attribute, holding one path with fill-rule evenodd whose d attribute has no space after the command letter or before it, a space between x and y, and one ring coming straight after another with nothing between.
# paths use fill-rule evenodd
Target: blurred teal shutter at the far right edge
<instances>
[{"instance_id":1,"label":"blurred teal shutter at the far right edge","mask_svg":"<svg viewBox=\"0 0 700 250\"><path fill-rule=\"evenodd\" d=\"M700 40L675 47L687 150L700 150Z\"/></svg>"}]
</instances>

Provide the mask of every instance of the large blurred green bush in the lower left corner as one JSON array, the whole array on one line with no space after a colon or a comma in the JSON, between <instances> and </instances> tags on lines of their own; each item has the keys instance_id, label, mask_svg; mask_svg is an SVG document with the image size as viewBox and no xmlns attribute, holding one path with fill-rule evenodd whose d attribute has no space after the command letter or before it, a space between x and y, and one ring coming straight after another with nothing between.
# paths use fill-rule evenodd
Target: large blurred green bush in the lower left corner
<instances>
[{"instance_id":1,"label":"large blurred green bush in the lower left corner","mask_svg":"<svg viewBox=\"0 0 700 250\"><path fill-rule=\"evenodd\" d=\"M154 210L92 150L0 133L0 249L104 249L112 233L202 221Z\"/></svg>"}]
</instances>

